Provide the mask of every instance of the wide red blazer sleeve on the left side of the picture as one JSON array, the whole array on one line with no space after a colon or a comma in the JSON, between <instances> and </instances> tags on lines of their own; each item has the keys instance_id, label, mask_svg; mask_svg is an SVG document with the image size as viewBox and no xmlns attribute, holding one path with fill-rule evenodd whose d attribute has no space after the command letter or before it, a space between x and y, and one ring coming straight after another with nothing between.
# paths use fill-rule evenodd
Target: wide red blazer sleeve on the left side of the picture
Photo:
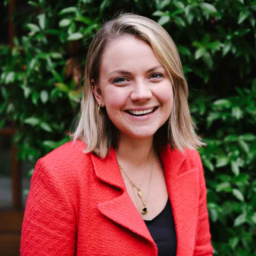
<instances>
[{"instance_id":1,"label":"wide red blazer sleeve on the left side of the picture","mask_svg":"<svg viewBox=\"0 0 256 256\"><path fill-rule=\"evenodd\" d=\"M60 175L51 171L52 163L45 162L39 159L32 175L20 255L75 255L76 216Z\"/></svg>"}]
</instances>

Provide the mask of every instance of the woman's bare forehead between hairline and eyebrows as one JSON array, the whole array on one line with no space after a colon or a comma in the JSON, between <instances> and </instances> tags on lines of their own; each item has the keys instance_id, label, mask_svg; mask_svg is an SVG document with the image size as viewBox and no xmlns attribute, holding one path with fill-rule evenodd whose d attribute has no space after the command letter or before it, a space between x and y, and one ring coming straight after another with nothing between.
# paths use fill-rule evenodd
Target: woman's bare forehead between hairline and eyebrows
<instances>
[{"instance_id":1,"label":"woman's bare forehead between hairline and eyebrows","mask_svg":"<svg viewBox=\"0 0 256 256\"><path fill-rule=\"evenodd\" d=\"M101 70L113 69L138 70L161 65L153 49L135 36L122 36L109 42L102 55Z\"/></svg>"}]
</instances>

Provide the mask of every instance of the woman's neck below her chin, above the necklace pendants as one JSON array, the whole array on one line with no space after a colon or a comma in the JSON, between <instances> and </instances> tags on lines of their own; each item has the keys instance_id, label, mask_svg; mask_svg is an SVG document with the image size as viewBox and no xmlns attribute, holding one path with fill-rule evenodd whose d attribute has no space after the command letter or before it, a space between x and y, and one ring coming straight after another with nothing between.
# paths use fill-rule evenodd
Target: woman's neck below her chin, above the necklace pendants
<instances>
[{"instance_id":1,"label":"woman's neck below her chin, above the necklace pendants","mask_svg":"<svg viewBox=\"0 0 256 256\"><path fill-rule=\"evenodd\" d=\"M116 148L116 157L120 164L132 163L134 167L145 166L149 163L153 148L153 136L134 139L120 135L119 145Z\"/></svg>"}]
</instances>

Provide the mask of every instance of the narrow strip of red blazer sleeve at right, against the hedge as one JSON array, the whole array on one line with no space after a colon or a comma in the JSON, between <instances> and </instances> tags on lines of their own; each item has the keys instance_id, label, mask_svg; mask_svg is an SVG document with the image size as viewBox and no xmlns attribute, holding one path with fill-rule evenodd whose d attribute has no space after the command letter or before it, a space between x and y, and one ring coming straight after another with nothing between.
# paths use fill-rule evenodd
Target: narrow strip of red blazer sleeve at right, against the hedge
<instances>
[{"instance_id":1,"label":"narrow strip of red blazer sleeve at right, against the hedge","mask_svg":"<svg viewBox=\"0 0 256 256\"><path fill-rule=\"evenodd\" d=\"M194 256L212 256L213 248L211 244L211 234L206 201L207 191L205 186L203 164L199 154L197 159L199 166L200 197Z\"/></svg>"}]
</instances>

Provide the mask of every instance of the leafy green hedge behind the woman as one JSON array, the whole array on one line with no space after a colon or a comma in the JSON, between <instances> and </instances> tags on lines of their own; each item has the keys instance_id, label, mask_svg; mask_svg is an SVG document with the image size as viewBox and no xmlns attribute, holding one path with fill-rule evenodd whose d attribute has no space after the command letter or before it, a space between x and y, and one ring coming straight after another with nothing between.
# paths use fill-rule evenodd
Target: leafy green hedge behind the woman
<instances>
[{"instance_id":1,"label":"leafy green hedge behind the woman","mask_svg":"<svg viewBox=\"0 0 256 256\"><path fill-rule=\"evenodd\" d=\"M215 255L256 255L256 1L39 0L27 6L14 17L14 47L0 47L0 128L15 123L19 158L35 164L69 140L86 52L102 22L119 10L147 16L178 46L191 114L208 143L199 152Z\"/></svg>"}]
</instances>

